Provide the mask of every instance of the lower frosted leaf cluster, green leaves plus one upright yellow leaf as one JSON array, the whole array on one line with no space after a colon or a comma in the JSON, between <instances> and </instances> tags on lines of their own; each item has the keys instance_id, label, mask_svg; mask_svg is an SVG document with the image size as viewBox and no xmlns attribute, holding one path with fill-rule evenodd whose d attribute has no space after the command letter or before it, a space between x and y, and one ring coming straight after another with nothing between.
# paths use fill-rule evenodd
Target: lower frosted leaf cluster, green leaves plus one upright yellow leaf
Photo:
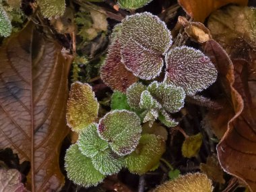
<instances>
[{"instance_id":1,"label":"lower frosted leaf cluster, green leaves plus one upright yellow leaf","mask_svg":"<svg viewBox=\"0 0 256 192\"><path fill-rule=\"evenodd\" d=\"M79 139L65 156L69 179L89 187L121 168L143 174L156 166L165 151L164 140L141 135L141 121L129 110L112 110L98 123L99 104L88 84L75 82L67 103L67 123Z\"/></svg>"}]
</instances>

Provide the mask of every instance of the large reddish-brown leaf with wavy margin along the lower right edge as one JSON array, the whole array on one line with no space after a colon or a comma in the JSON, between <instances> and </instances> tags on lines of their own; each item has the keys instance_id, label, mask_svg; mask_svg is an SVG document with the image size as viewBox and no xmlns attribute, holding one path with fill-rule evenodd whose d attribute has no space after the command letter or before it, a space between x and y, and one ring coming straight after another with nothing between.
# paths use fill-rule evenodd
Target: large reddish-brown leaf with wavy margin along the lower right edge
<instances>
[{"instance_id":1,"label":"large reddish-brown leaf with wavy margin along the lower right edge","mask_svg":"<svg viewBox=\"0 0 256 192\"><path fill-rule=\"evenodd\" d=\"M233 61L235 69L234 88L243 97L245 108L237 118L228 122L228 131L217 146L222 168L245 182L250 191L256 191L256 102L255 64L248 65L242 59Z\"/></svg>"}]
</instances>

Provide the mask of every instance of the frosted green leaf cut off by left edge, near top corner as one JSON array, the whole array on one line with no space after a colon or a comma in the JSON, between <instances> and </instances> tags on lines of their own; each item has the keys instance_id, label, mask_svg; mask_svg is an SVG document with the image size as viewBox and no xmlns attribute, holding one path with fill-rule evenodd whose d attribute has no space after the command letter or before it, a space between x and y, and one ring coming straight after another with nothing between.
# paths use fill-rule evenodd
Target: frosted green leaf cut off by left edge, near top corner
<instances>
[{"instance_id":1,"label":"frosted green leaf cut off by left edge, near top corner","mask_svg":"<svg viewBox=\"0 0 256 192\"><path fill-rule=\"evenodd\" d=\"M11 21L9 20L3 6L0 4L0 36L7 37L11 34Z\"/></svg>"}]
</instances>

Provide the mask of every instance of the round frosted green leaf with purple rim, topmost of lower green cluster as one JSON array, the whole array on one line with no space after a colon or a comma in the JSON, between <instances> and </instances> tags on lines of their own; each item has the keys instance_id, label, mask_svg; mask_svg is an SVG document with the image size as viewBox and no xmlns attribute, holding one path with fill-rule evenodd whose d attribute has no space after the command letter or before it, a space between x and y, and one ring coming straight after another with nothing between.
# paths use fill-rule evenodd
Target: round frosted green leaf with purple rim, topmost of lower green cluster
<instances>
[{"instance_id":1,"label":"round frosted green leaf with purple rim, topmost of lower green cluster","mask_svg":"<svg viewBox=\"0 0 256 192\"><path fill-rule=\"evenodd\" d=\"M100 119L98 133L120 156L133 152L139 143L139 117L129 110L113 110Z\"/></svg>"}]
</instances>

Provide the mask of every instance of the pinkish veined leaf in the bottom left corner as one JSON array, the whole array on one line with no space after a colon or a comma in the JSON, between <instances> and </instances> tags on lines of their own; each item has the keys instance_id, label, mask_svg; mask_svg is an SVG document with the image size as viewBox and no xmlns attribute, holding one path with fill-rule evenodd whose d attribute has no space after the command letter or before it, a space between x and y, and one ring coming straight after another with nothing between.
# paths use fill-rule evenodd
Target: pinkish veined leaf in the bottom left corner
<instances>
[{"instance_id":1,"label":"pinkish veined leaf in the bottom left corner","mask_svg":"<svg viewBox=\"0 0 256 192\"><path fill-rule=\"evenodd\" d=\"M17 169L0 169L0 189L3 192L27 192L22 183L22 174Z\"/></svg>"}]
</instances>

